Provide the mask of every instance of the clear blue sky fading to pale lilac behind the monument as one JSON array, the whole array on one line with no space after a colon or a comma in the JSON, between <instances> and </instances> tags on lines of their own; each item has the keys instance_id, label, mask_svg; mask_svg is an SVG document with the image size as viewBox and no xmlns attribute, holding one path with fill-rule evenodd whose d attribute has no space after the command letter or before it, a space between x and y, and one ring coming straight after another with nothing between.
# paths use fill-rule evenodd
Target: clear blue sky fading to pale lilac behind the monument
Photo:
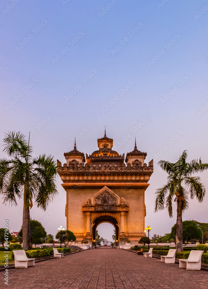
<instances>
[{"instance_id":1,"label":"clear blue sky fading to pale lilac behind the monument","mask_svg":"<svg viewBox=\"0 0 208 289\"><path fill-rule=\"evenodd\" d=\"M207 1L2 0L0 21L1 145L7 131L30 131L34 156L64 163L75 136L88 154L105 126L119 154L132 151L136 137L146 162L154 159L145 226L169 233L176 212L154 213L155 191L167 180L157 162L188 150L187 161L208 163ZM199 176L207 188L208 172ZM57 177L46 212L30 211L48 234L66 226L61 183ZM208 222L207 208L208 194L190 200L183 219ZM5 218L20 229L22 200L1 205L1 227ZM109 228L100 225L99 234L111 240Z\"/></svg>"}]
</instances>

